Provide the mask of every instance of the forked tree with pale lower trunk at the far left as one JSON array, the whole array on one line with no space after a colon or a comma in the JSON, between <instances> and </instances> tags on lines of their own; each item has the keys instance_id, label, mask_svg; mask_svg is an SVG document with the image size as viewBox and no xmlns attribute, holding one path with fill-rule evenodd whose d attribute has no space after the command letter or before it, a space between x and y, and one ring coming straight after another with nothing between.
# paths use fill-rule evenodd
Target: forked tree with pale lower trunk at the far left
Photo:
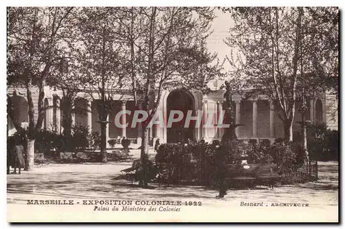
<instances>
[{"instance_id":1,"label":"forked tree with pale lower trunk at the far left","mask_svg":"<svg viewBox=\"0 0 345 229\"><path fill-rule=\"evenodd\" d=\"M59 43L66 32L61 28L66 26L71 11L72 8L8 8L8 77L20 79L26 87L28 130L23 129L15 119L9 95L8 114L14 127L27 141L25 170L32 170L34 166L34 141L41 130L45 114L44 87L53 63L59 59ZM32 100L34 85L39 89L36 123Z\"/></svg>"}]
</instances>

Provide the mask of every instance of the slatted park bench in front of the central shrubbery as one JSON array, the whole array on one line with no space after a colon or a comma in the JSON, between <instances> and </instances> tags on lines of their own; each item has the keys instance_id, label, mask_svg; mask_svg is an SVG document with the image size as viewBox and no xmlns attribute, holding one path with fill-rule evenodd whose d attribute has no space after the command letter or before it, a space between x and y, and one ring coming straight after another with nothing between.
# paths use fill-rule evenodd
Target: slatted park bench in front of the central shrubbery
<instances>
[{"instance_id":1,"label":"slatted park bench in front of the central shrubbery","mask_svg":"<svg viewBox=\"0 0 345 229\"><path fill-rule=\"evenodd\" d=\"M226 180L235 185L239 183L265 183L274 188L275 182L279 179L278 166L274 163L257 164L227 164Z\"/></svg>"}]
</instances>

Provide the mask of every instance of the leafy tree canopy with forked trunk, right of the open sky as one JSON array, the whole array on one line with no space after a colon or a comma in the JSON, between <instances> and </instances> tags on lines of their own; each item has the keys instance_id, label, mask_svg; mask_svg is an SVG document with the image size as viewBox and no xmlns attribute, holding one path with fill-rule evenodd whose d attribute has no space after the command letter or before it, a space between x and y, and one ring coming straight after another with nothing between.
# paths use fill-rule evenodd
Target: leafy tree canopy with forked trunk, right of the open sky
<instances>
[{"instance_id":1,"label":"leafy tree canopy with forked trunk, right of the open sky","mask_svg":"<svg viewBox=\"0 0 345 229\"><path fill-rule=\"evenodd\" d=\"M297 97L328 89L337 93L339 10L337 8L253 7L224 9L235 21L226 43L235 79L255 97L275 103L292 141ZM331 45L333 43L333 45Z\"/></svg>"}]
</instances>

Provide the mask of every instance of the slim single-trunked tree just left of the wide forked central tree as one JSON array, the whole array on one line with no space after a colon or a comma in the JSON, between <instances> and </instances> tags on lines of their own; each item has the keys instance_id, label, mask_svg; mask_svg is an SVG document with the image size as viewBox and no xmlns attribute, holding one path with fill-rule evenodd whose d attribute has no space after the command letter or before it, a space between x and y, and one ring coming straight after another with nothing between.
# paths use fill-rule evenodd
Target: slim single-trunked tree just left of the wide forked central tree
<instances>
[{"instance_id":1,"label":"slim single-trunked tree just left of the wide forked central tree","mask_svg":"<svg viewBox=\"0 0 345 229\"><path fill-rule=\"evenodd\" d=\"M108 116L112 112L114 95L121 95L123 90L120 89L124 86L124 63L121 58L124 50L117 36L119 28L113 16L116 10L117 8L79 9L79 82L86 85L87 92L94 101L99 100L97 112L101 126L103 163L107 162Z\"/></svg>"}]
</instances>

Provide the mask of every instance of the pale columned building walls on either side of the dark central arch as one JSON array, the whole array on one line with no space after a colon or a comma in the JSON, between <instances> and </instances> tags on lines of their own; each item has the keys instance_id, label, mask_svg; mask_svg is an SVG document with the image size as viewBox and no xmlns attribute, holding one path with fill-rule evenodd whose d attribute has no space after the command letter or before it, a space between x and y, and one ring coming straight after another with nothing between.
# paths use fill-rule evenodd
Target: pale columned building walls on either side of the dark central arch
<instances>
[{"instance_id":1,"label":"pale columned building walls on either side of the dark central arch","mask_svg":"<svg viewBox=\"0 0 345 229\"><path fill-rule=\"evenodd\" d=\"M53 123L56 123L58 126L61 125L61 121L59 116L59 109L55 109L55 112L53 112L52 106L54 106L54 99L53 96L61 98L61 92L59 91L53 91L50 90L50 88L45 88L46 91L46 98L45 98L45 106L48 106L46 111L46 120L44 121L44 125L46 128L50 128ZM18 102L19 110L18 117L20 121L26 122L28 121L28 110L27 110L27 99L26 99L26 88L8 88L8 93L12 98L14 98L14 101ZM164 91L161 97L161 101L159 103L159 108L157 110L161 110L164 114L164 119L167 120L167 104L166 99L168 97L169 91ZM203 95L200 92L191 92L193 94L193 100L194 100L194 114L196 114L197 110L200 110L203 112L203 116L206 117L206 110L215 111L217 115L213 117L213 120L211 123L214 125L212 127L204 128L202 125L204 125L204 122L201 123L201 128L195 128L195 139L201 139L204 138L206 141L212 141L214 139L220 139L222 133L224 130L217 127L218 123L218 116L219 112L221 112L222 106L221 103L224 101L224 91L215 91L211 92L210 94ZM38 88L32 89L32 99L34 103L34 121L37 121L37 101L38 101ZM130 97L124 99L126 100L126 110L131 110L132 113L135 110L135 104ZM233 101L239 102L241 101L241 98L238 94L233 95ZM83 125L88 125L90 123L90 126L92 130L97 130L100 132L100 125L99 125L99 118L98 118L98 112L97 112L97 103L99 103L98 100L90 101L88 100L81 100L76 103L76 106L81 106L82 108L87 108L88 103L92 106L92 113L91 114L84 114L79 115L75 114L74 123L78 124L81 123ZM317 100L314 99L312 101L308 101L310 103L310 109L308 110L308 113L306 115L307 120L311 120L312 123L316 123L320 114L321 119L323 122L326 122L328 128L337 129L338 128L338 116L337 116L337 100L335 98L335 95L331 93L326 93L323 96L320 96L320 100L317 103ZM239 123L243 124L244 126L239 127L237 132L239 133L238 137L239 139L251 139L253 138L253 101L244 101L242 100L239 103ZM270 122L271 119L274 123L274 137L284 137L284 126L282 121L277 116L276 112L272 112L274 117L271 117L270 115L270 104L268 103L267 99L259 99L256 101L257 104L257 136L255 136L256 139L270 139L272 137L271 135L271 126ZM319 110L319 105L321 104L321 111ZM296 104L296 112L295 112L295 120L293 123L293 130L295 132L300 132L301 127L298 123L301 121L301 115L299 114L298 108L301 106L300 102L297 102ZM234 108L236 106L234 105ZM109 117L109 120L112 122L108 126L108 139L117 139L119 137L122 137L124 132L121 130L121 128L118 128L115 126L113 121L115 120L115 115L117 112L119 112L121 109L123 109L123 103L122 101L115 101L114 108L112 111L112 114ZM277 108L276 108L277 109ZM320 113L321 112L321 113ZM59 117L58 117L59 116ZM131 123L132 116L126 116L126 121ZM236 118L237 119L237 118ZM12 125L12 121L8 121L8 132L9 135L12 135L15 132L14 126ZM155 125L153 126L152 130L150 130L150 138L152 141L155 141L155 139L159 138L161 139L161 143L166 142L166 128ZM130 139L139 139L141 137L141 133L139 132L139 128L130 128L130 126L126 129L126 137Z\"/></svg>"}]
</instances>

